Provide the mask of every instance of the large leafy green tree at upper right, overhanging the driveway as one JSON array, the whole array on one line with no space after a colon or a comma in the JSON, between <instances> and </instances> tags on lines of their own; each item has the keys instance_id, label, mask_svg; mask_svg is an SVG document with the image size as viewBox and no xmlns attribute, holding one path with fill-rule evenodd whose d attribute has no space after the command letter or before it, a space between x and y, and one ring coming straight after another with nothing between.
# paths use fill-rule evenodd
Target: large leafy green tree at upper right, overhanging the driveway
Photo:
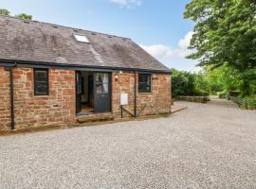
<instances>
[{"instance_id":1,"label":"large leafy green tree at upper right, overhanging the driveway","mask_svg":"<svg viewBox=\"0 0 256 189\"><path fill-rule=\"evenodd\" d=\"M192 0L184 16L195 22L189 59L212 69L227 66L239 75L243 95L256 80L255 0Z\"/></svg>"}]
</instances>

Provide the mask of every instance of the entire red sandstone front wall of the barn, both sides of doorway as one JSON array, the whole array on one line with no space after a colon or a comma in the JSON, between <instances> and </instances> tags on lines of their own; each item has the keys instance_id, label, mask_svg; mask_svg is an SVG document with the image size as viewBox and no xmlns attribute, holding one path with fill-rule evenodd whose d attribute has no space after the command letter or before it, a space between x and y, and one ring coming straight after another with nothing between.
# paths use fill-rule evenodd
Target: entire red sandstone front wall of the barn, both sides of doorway
<instances>
[{"instance_id":1,"label":"entire red sandstone front wall of the barn, both sides of doorway","mask_svg":"<svg viewBox=\"0 0 256 189\"><path fill-rule=\"evenodd\" d=\"M116 80L116 75L119 76L118 80ZM129 95L129 105L125 108L134 113L134 73L113 73L112 80L113 114L116 118L120 117L120 93ZM74 70L49 69L49 95L46 96L34 95L32 68L13 68L13 84L15 127L17 129L76 122ZM141 112L145 105L146 108ZM170 106L170 75L152 75L152 93L137 93L137 113L146 115L170 112ZM131 115L124 113L124 116ZM9 71L0 67L0 129L9 128Z\"/></svg>"}]
</instances>

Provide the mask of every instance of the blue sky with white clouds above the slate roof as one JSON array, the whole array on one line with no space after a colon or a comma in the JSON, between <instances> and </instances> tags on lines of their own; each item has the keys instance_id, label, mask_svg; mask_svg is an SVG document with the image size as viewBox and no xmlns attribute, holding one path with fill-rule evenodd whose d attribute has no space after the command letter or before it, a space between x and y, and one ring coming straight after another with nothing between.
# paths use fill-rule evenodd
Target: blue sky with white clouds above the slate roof
<instances>
[{"instance_id":1,"label":"blue sky with white clouds above the slate roof","mask_svg":"<svg viewBox=\"0 0 256 189\"><path fill-rule=\"evenodd\" d=\"M183 19L190 0L1 0L12 15L129 37L170 68L195 71L186 60L193 23Z\"/></svg>"}]
</instances>

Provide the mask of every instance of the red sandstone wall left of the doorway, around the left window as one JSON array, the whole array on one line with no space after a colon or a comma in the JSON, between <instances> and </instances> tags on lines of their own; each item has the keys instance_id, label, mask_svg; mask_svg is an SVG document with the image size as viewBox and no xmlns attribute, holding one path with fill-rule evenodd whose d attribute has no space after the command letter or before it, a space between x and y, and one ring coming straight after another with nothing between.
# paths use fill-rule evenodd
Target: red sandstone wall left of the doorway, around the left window
<instances>
[{"instance_id":1,"label":"red sandstone wall left of the doorway, around the left window","mask_svg":"<svg viewBox=\"0 0 256 189\"><path fill-rule=\"evenodd\" d=\"M1 76L9 72L0 71ZM75 71L49 69L49 95L35 96L32 68L13 68L15 127L37 127L76 121ZM4 84L4 83L3 83ZM2 82L0 85L3 85ZM9 93L1 87L1 98L6 106L0 108L0 119L3 112L9 112ZM5 111L3 111L5 109ZM9 115L9 113L7 113ZM9 119L9 116L8 116ZM0 129L7 124L1 122Z\"/></svg>"}]
</instances>

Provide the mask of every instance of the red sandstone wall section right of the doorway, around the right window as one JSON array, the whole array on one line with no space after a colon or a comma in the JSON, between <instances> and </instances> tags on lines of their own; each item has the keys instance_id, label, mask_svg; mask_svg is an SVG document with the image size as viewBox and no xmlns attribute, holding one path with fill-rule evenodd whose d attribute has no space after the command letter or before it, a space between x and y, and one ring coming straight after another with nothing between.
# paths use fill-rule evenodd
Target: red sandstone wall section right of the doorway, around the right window
<instances>
[{"instance_id":1,"label":"red sandstone wall section right of the doorway, around the right window","mask_svg":"<svg viewBox=\"0 0 256 189\"><path fill-rule=\"evenodd\" d=\"M119 77L118 80L115 76ZM116 117L120 117L119 105L121 93L127 93L129 96L129 105L125 106L124 108L127 109L129 112L134 113L135 74L128 72L122 74L114 73L112 80L112 108L114 115ZM154 74L152 75L152 93L140 94L137 92L137 115L170 112L171 98L171 76ZM144 106L145 108L143 109ZM130 115L129 113L125 112L125 116Z\"/></svg>"}]
</instances>

